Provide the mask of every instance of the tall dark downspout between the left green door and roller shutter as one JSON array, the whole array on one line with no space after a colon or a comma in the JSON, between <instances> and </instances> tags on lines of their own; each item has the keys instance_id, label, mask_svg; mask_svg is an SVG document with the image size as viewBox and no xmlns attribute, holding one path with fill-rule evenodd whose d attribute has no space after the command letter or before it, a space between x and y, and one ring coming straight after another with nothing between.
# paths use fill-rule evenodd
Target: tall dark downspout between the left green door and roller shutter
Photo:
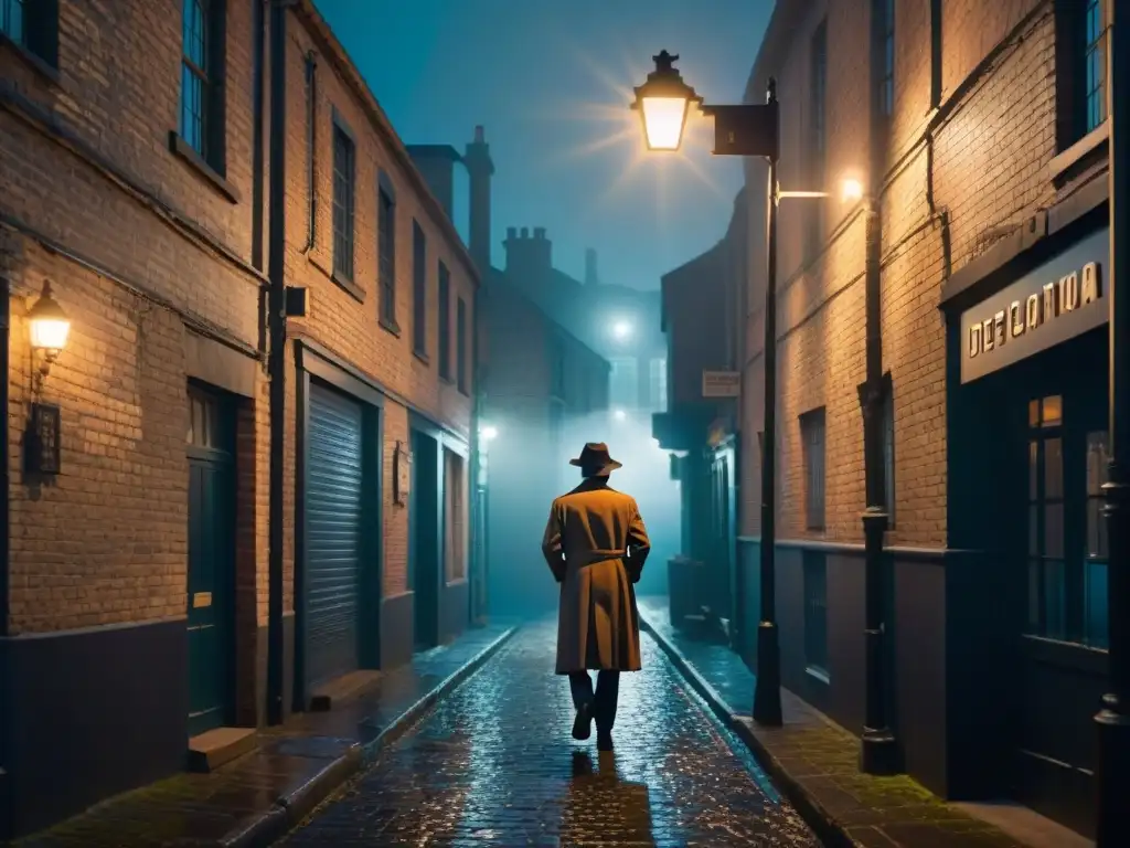
<instances>
[{"instance_id":1,"label":"tall dark downspout between the left green door and roller shutter","mask_svg":"<svg viewBox=\"0 0 1130 848\"><path fill-rule=\"evenodd\" d=\"M286 20L287 0L271 0L270 216L268 232L267 330L270 379L270 488L268 501L267 721L284 712L282 485L286 450Z\"/></svg>"}]
</instances>

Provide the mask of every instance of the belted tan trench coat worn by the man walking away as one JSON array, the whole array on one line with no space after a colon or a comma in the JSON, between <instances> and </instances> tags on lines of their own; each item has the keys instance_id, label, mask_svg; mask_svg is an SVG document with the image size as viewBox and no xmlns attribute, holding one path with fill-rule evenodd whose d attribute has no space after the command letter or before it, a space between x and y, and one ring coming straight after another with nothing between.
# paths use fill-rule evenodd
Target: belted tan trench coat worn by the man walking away
<instances>
[{"instance_id":1,"label":"belted tan trench coat worn by the man walking away","mask_svg":"<svg viewBox=\"0 0 1130 848\"><path fill-rule=\"evenodd\" d=\"M633 585L651 551L635 499L590 477L556 499L541 553L562 585L557 674L640 670Z\"/></svg>"}]
</instances>

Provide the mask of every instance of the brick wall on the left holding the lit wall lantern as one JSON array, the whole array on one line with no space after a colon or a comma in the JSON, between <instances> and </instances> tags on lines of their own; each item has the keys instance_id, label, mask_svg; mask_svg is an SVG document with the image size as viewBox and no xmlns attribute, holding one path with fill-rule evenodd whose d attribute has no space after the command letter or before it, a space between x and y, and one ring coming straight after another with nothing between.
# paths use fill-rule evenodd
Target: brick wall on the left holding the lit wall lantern
<instances>
[{"instance_id":1,"label":"brick wall on the left holding the lit wall lantern","mask_svg":"<svg viewBox=\"0 0 1130 848\"><path fill-rule=\"evenodd\" d=\"M227 18L226 181L241 202L169 152L180 15L145 0L59 9L58 72L0 47L14 632L184 615L185 325L249 352L258 337L253 7L231 3ZM21 318L44 278L72 329L44 388L62 410L63 470L41 483L23 473Z\"/></svg>"}]
</instances>

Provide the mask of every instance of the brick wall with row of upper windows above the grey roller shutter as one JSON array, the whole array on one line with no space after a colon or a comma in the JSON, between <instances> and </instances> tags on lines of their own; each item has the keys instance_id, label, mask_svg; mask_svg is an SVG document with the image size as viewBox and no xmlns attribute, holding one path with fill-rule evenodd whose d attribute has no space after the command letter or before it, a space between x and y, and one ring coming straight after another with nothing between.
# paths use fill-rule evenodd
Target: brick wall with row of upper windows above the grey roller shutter
<instances>
[{"instance_id":1,"label":"brick wall with row of upper windows above the grey roller shutter","mask_svg":"<svg viewBox=\"0 0 1130 848\"><path fill-rule=\"evenodd\" d=\"M366 90L358 89L356 70L342 63L340 47L327 41L316 14L301 7L288 18L287 38L287 253L288 285L305 286L308 310L305 318L292 319L290 334L308 338L351 363L359 372L384 387L391 395L384 407L384 592L397 595L408 589L408 513L393 503L392 461L397 442L406 443L408 404L452 432L469 438L471 397L459 391L438 374L438 262L451 275L451 303L447 332L451 339L451 375L457 371L457 303L467 306L467 375L469 392L475 391L471 358L475 321L475 282L467 266L467 254L453 244L441 227L440 213L425 202L420 189L395 149L401 142L390 136L380 107ZM314 240L310 245L308 137L306 55L313 51L315 70L314 110ZM348 62L348 60L344 60ZM333 122L341 120L356 142L354 275L350 285L332 278L333 269ZM399 334L384 327L380 318L381 292L377 277L377 184L386 174L395 191L395 319ZM414 353L412 338L412 222L424 231L427 249L426 353L427 362ZM292 360L293 361L293 360ZM292 381L293 383L293 381ZM295 400L288 397L288 439L293 439ZM290 442L293 443L293 442ZM288 451L288 456L289 456ZM288 459L286 475L287 520L293 520L294 460ZM287 531L288 545L294 534ZM293 563L293 552L288 553ZM289 568L289 566L288 566ZM292 608L292 583L287 577L286 607Z\"/></svg>"}]
</instances>

